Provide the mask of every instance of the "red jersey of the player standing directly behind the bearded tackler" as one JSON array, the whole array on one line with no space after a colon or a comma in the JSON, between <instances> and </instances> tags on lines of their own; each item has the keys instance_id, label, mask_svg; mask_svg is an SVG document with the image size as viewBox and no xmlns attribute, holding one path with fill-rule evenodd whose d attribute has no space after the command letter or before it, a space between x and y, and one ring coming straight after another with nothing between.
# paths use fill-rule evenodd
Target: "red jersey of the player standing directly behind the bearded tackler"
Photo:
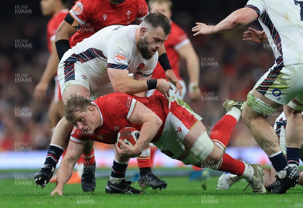
<instances>
[{"instance_id":1,"label":"red jersey of the player standing directly behind the bearded tackler","mask_svg":"<svg viewBox=\"0 0 303 208\"><path fill-rule=\"evenodd\" d=\"M78 0L69 13L81 24L70 42L73 47L104 27L142 21L148 14L148 6L144 0L125 0L119 5L109 0Z\"/></svg>"}]
</instances>

